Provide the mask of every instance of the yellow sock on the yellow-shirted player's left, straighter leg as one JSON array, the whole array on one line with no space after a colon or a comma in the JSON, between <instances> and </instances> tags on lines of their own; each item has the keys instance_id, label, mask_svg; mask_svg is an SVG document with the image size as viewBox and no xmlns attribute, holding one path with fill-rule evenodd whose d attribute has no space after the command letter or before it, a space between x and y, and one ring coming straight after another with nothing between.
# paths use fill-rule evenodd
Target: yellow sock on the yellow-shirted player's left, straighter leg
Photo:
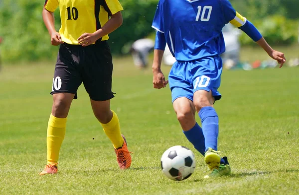
<instances>
[{"instance_id":1,"label":"yellow sock on the yellow-shirted player's left, straighter leg","mask_svg":"<svg viewBox=\"0 0 299 195\"><path fill-rule=\"evenodd\" d=\"M57 118L51 114L47 130L48 164L57 164L58 162L60 146L65 135L65 127L66 118Z\"/></svg>"}]
</instances>

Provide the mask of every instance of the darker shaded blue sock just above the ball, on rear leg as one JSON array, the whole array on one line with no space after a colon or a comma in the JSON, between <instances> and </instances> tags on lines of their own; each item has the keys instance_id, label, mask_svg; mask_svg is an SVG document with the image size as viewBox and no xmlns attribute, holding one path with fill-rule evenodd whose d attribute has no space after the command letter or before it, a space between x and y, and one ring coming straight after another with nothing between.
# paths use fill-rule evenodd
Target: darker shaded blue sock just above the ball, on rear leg
<instances>
[{"instance_id":1,"label":"darker shaded blue sock just above the ball, on rear leg","mask_svg":"<svg viewBox=\"0 0 299 195\"><path fill-rule=\"evenodd\" d=\"M205 143L202 129L196 123L191 130L183 131L187 139L194 145L194 148L202 155L205 152Z\"/></svg>"}]
</instances>

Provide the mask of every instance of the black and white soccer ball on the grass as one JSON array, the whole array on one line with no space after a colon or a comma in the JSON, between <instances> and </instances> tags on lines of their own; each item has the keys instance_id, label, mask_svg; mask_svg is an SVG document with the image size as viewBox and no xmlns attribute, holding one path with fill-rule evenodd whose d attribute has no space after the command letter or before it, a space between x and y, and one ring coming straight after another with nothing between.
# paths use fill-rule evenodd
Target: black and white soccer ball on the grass
<instances>
[{"instance_id":1,"label":"black and white soccer ball on the grass","mask_svg":"<svg viewBox=\"0 0 299 195\"><path fill-rule=\"evenodd\" d=\"M171 180L181 181L192 175L195 169L194 153L187 147L176 145L168 148L161 157L161 168Z\"/></svg>"}]
</instances>

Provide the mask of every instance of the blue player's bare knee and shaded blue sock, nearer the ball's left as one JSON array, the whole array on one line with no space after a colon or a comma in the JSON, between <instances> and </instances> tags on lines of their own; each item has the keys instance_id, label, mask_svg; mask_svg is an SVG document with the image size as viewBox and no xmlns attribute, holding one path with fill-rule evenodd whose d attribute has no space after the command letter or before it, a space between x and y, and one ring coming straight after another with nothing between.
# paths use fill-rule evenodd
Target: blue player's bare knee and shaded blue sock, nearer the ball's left
<instances>
[{"instance_id":1,"label":"blue player's bare knee and shaded blue sock, nearer the ball's left","mask_svg":"<svg viewBox=\"0 0 299 195\"><path fill-rule=\"evenodd\" d=\"M195 121L195 107L193 102L185 97L174 100L173 108L183 133L202 155L205 152L204 136L201 127Z\"/></svg>"}]
</instances>

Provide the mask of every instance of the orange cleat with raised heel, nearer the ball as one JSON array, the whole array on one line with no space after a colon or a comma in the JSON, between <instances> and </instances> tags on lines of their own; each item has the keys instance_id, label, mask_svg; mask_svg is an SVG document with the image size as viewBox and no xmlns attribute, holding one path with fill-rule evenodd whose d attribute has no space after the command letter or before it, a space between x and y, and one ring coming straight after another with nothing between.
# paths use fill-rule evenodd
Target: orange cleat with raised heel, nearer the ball
<instances>
[{"instance_id":1,"label":"orange cleat with raised heel, nearer the ball","mask_svg":"<svg viewBox=\"0 0 299 195\"><path fill-rule=\"evenodd\" d=\"M131 162L132 162L130 153L133 153L133 152L130 152L128 150L127 140L126 140L124 135L122 135L122 136L124 138L123 146L120 147L120 148L117 148L117 149L114 148L114 150L115 150L115 153L116 153L116 159L117 159L117 162L119 164L119 167L121 169L129 169L130 166L131 166Z\"/></svg>"}]
</instances>

